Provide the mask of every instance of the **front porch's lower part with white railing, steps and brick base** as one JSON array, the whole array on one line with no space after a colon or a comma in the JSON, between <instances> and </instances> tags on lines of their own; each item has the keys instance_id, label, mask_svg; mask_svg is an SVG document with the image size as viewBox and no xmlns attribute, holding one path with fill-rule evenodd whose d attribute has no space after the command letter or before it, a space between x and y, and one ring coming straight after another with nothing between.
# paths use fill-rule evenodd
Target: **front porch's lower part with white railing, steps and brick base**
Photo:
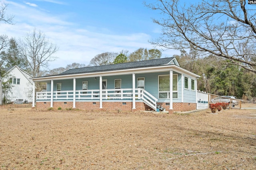
<instances>
[{"instance_id":1,"label":"front porch's lower part with white railing, steps and brick base","mask_svg":"<svg viewBox=\"0 0 256 170\"><path fill-rule=\"evenodd\" d=\"M40 107L165 111L157 102L158 99L143 88L36 92L36 104Z\"/></svg>"}]
</instances>

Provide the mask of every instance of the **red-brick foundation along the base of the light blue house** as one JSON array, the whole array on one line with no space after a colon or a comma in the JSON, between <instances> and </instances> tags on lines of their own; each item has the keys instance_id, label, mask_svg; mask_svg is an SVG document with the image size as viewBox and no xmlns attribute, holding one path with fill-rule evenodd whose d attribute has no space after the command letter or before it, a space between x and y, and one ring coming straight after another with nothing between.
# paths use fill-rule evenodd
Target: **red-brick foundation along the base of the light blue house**
<instances>
[{"instance_id":1,"label":"red-brick foundation along the base of the light blue house","mask_svg":"<svg viewBox=\"0 0 256 170\"><path fill-rule=\"evenodd\" d=\"M164 107L169 113L174 111L190 111L196 109L196 103L173 103L172 110L169 110L169 103L157 103ZM38 109L48 109L50 102L36 102ZM53 102L53 108L58 109L73 108L73 102ZM102 108L100 109L100 102L76 102L76 109L80 110L101 110L101 111L145 111L151 110L149 106L143 102L136 102L136 109L132 109L132 102L102 102Z\"/></svg>"}]
</instances>

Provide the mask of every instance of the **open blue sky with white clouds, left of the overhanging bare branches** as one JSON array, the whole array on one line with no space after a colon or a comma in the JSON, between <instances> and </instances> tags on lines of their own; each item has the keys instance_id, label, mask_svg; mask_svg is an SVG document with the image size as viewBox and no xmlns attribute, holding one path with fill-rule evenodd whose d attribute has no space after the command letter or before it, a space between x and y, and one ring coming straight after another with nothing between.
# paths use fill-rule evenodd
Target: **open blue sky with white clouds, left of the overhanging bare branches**
<instances>
[{"instance_id":1,"label":"open blue sky with white clouds, left of the overhanging bare branches","mask_svg":"<svg viewBox=\"0 0 256 170\"><path fill-rule=\"evenodd\" d=\"M152 3L156 0L146 0ZM0 23L1 34L22 39L36 29L58 45L50 69L67 64L89 64L95 55L142 47L160 36L161 27L152 22L158 12L146 8L144 0L1 0L14 25ZM160 48L159 48L160 49ZM180 54L167 50L162 57Z\"/></svg>"}]
</instances>

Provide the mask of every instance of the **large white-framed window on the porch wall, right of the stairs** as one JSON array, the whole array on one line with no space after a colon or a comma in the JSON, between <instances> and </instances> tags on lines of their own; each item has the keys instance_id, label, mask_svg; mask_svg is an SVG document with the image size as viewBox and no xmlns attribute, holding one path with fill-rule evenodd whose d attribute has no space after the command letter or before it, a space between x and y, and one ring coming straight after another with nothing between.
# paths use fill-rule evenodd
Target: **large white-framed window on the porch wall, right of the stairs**
<instances>
[{"instance_id":1,"label":"large white-framed window on the porch wall, right of the stairs","mask_svg":"<svg viewBox=\"0 0 256 170\"><path fill-rule=\"evenodd\" d=\"M159 98L170 98L170 75L159 76ZM178 75L172 76L172 98L178 98Z\"/></svg>"}]
</instances>

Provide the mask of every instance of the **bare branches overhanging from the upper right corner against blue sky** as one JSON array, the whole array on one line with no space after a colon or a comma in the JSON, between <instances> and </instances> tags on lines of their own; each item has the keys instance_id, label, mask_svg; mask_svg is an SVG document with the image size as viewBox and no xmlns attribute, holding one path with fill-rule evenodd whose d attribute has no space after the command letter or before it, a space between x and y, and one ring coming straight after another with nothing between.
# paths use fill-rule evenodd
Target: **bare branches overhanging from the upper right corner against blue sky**
<instances>
[{"instance_id":1,"label":"bare branches overhanging from the upper right corner against blue sky","mask_svg":"<svg viewBox=\"0 0 256 170\"><path fill-rule=\"evenodd\" d=\"M162 14L162 19L153 19L162 26L162 37L152 44L168 49L193 46L256 72L256 10L246 0L202 0L191 5L158 0L146 6ZM252 50L248 53L244 47Z\"/></svg>"}]
</instances>

